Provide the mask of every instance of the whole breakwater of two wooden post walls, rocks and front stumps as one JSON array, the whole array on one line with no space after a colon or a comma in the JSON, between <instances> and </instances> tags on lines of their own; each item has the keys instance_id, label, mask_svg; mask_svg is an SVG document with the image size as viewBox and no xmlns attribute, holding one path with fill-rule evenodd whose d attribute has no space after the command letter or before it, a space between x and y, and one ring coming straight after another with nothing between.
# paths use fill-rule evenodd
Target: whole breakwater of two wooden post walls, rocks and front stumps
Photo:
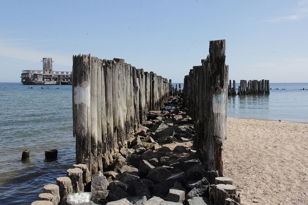
<instances>
[{"instance_id":1,"label":"whole breakwater of two wooden post walls, rocks and front stumps","mask_svg":"<svg viewBox=\"0 0 308 205\"><path fill-rule=\"evenodd\" d=\"M57 178L48 200L240 204L233 179L222 177L228 92L225 40L211 41L201 63L185 76L178 93L171 80L136 69L124 59L73 56L78 165L67 170L67 177ZM167 100L172 110L161 110ZM186 145L189 139L184 136L194 139L192 148L161 147Z\"/></svg>"}]
</instances>

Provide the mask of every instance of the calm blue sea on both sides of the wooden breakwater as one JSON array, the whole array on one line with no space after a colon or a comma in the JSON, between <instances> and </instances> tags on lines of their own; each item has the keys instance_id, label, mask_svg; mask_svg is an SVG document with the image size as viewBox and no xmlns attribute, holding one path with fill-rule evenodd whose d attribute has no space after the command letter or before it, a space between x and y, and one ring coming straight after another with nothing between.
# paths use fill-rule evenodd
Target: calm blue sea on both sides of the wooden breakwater
<instances>
[{"instance_id":1,"label":"calm blue sea on both sides of the wooden breakwater","mask_svg":"<svg viewBox=\"0 0 308 205\"><path fill-rule=\"evenodd\" d=\"M269 95L228 97L228 117L308 122L308 84L270 87ZM71 86L0 83L0 204L30 204L74 164L71 92ZM26 149L30 160L22 161ZM44 161L45 149L57 149L57 160Z\"/></svg>"}]
</instances>

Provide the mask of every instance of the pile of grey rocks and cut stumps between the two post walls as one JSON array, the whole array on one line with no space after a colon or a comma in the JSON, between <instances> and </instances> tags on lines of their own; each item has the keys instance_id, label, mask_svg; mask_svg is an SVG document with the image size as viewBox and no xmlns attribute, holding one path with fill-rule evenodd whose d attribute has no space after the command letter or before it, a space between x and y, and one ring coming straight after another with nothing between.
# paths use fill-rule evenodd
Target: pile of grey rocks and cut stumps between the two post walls
<instances>
[{"instance_id":1,"label":"pile of grey rocks and cut stumps between the two post walls","mask_svg":"<svg viewBox=\"0 0 308 205\"><path fill-rule=\"evenodd\" d=\"M68 170L72 191L57 180L62 204L240 204L232 179L203 177L202 151L192 148L194 126L181 100L171 97L163 111L150 111L105 172L89 178L83 165L75 165L79 174Z\"/></svg>"}]
</instances>

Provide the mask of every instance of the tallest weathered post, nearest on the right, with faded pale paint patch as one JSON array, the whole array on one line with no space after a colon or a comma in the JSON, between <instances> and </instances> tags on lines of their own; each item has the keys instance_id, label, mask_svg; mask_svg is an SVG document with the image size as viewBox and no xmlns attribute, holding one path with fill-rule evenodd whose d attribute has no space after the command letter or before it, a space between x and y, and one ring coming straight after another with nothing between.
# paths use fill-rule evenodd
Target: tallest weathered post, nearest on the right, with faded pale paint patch
<instances>
[{"instance_id":1,"label":"tallest weathered post, nearest on the right, with faded pale paint patch","mask_svg":"<svg viewBox=\"0 0 308 205\"><path fill-rule=\"evenodd\" d=\"M205 171L217 170L219 176L223 176L221 152L226 139L228 66L225 58L225 40L211 41L210 66L205 71L203 163Z\"/></svg>"}]
</instances>

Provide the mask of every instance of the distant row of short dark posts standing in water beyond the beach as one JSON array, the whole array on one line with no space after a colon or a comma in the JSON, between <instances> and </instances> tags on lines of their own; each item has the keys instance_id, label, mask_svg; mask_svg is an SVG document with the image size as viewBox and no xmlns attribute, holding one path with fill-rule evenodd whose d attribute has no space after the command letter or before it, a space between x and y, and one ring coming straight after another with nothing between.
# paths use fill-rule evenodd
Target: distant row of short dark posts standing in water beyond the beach
<instances>
[{"instance_id":1,"label":"distant row of short dark posts standing in water beyond the beach","mask_svg":"<svg viewBox=\"0 0 308 205\"><path fill-rule=\"evenodd\" d=\"M233 80L233 86L231 80L228 85L228 96L235 95L257 95L257 94L269 94L269 80L241 80L238 92L236 92L236 83Z\"/></svg>"}]
</instances>

